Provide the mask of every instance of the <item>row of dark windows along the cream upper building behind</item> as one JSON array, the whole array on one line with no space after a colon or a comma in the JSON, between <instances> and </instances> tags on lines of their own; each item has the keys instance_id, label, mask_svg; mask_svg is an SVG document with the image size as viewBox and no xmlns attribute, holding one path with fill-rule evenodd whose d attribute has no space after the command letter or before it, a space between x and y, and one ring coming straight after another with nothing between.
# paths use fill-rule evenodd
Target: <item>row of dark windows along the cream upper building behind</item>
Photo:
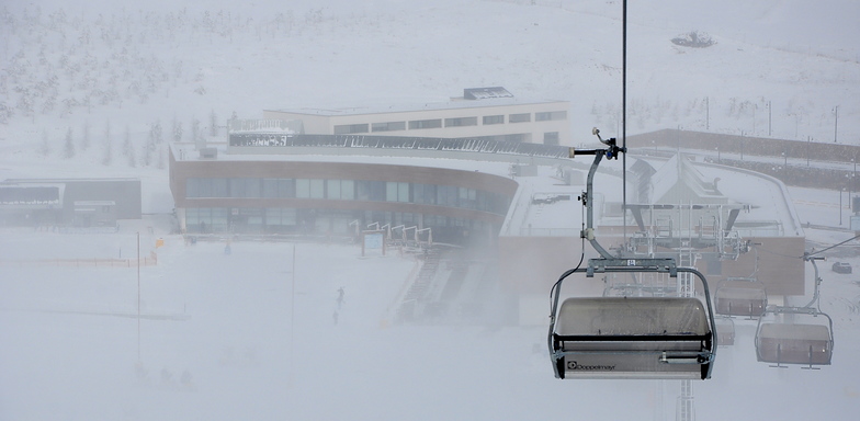
<instances>
[{"instance_id":1,"label":"row of dark windows along the cream upper building behind","mask_svg":"<svg viewBox=\"0 0 860 421\"><path fill-rule=\"evenodd\" d=\"M534 113L534 121L535 122L550 122L550 121L559 121L559 120L567 120L567 112L566 111L550 111L550 112L541 112ZM517 114L508 114L508 123L528 123L532 121L531 113L517 113ZM505 124L505 115L485 115L480 118L483 125L491 125L491 124ZM406 127L409 127L410 130L417 130L422 128L440 128L444 125L444 127L466 127L466 126L477 126L478 125L478 117L453 117L453 118L430 118L430 120L412 120L409 122L384 122L384 123L372 123L372 124L341 124L335 126L335 134L336 135L350 135L350 134L358 134L358 133L377 133L377 132L397 132L397 130L406 130Z\"/></svg>"}]
</instances>

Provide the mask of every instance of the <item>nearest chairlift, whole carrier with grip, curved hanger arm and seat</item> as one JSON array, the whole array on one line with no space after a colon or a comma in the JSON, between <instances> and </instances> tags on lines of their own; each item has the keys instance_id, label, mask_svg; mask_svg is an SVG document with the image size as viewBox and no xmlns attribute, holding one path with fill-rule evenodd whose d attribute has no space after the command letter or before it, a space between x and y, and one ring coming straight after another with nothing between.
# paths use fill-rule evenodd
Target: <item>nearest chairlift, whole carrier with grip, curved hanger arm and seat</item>
<instances>
[{"instance_id":1,"label":"nearest chairlift, whole carrier with grip, curved hanger arm and seat","mask_svg":"<svg viewBox=\"0 0 860 421\"><path fill-rule=\"evenodd\" d=\"M643 378L705 379L711 377L716 357L716 325L708 282L693 268L679 268L674 258L626 259L612 255L595 237L593 178L601 160L618 159L626 152L614 138L603 140L604 149L576 150L569 157L593 155L586 192L586 225L580 237L600 254L587 268L566 271L551 291L547 345L556 378ZM596 273L668 273L677 277L688 272L697 276L705 305L695 297L570 297L559 307L562 283L574 273L593 277Z\"/></svg>"}]
</instances>

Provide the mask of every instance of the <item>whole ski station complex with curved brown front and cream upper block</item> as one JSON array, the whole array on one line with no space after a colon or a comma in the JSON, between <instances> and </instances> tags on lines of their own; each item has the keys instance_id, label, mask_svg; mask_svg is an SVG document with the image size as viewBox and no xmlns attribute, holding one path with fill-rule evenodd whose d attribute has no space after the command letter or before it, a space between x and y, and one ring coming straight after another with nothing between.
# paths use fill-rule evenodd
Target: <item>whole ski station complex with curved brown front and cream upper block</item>
<instances>
[{"instance_id":1,"label":"whole ski station complex with curved brown front and cream upper block","mask_svg":"<svg viewBox=\"0 0 860 421\"><path fill-rule=\"evenodd\" d=\"M558 275L582 254L598 257L582 238L592 157L572 157L569 147L592 137L562 128L569 126L566 103L518 102L506 92L466 90L451 106L265 112L265 120L231 121L223 143L174 144L170 187L180 229L195 240L343 241L373 229L393 246L479 250L484 264L459 275L455 289L493 288L506 322L544 325ZM469 132L459 132L464 126ZM732 307L720 311L761 311L761 291L779 305L812 289L800 259L803 228L779 180L682 152L630 148L624 161L626 174L621 159L606 161L587 197L590 234L610 253L676 259L708 276L712 294L722 281L756 278L716 294ZM452 280L434 276L439 285L411 298L407 319L438 316L452 299L442 294ZM694 284L657 273L575 274L562 295L701 294Z\"/></svg>"}]
</instances>

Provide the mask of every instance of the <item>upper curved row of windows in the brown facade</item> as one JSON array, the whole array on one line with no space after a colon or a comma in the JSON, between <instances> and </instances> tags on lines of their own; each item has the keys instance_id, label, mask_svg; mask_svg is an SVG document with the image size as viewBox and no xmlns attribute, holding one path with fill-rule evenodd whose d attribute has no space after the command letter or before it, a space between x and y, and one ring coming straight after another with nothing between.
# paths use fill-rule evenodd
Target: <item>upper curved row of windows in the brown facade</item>
<instances>
[{"instance_id":1,"label":"upper curved row of windows in the brown facade","mask_svg":"<svg viewBox=\"0 0 860 421\"><path fill-rule=\"evenodd\" d=\"M509 198L476 189L396 181L189 178L186 198L326 198L401 202L477 209L505 215Z\"/></svg>"}]
</instances>

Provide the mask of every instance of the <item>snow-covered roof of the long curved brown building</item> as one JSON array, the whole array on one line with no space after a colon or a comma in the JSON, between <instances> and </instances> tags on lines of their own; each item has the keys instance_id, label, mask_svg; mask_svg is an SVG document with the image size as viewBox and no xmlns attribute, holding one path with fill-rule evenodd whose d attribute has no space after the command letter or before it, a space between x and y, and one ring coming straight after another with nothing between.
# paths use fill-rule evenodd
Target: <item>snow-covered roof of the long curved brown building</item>
<instances>
[{"instance_id":1,"label":"snow-covered roof of the long curved brown building","mask_svg":"<svg viewBox=\"0 0 860 421\"><path fill-rule=\"evenodd\" d=\"M448 149L441 147L417 148L415 145L405 147L404 143L408 143L409 138L392 138L391 143L376 141L370 146L362 141L361 146L355 146L344 139L367 140L370 137L322 135L317 137L328 140L317 144L303 141L250 148L228 148L224 144L211 146L220 149L215 158L216 161L359 162L431 167L511 177L520 187L500 232L502 236L576 237L581 228L584 207L577 197L585 189L586 174L591 161L590 159L572 160L566 158L566 155L555 153L556 149L562 147L528 145L529 151L532 152L534 152L532 149L541 149L542 147L548 151L541 155L538 150L536 155L529 156L494 152L485 150L483 147L476 148L467 141L456 144L460 146L459 149ZM445 139L445 141L451 139ZM212 161L212 159L199 158L194 151L194 145L172 144L171 148L173 156L179 161ZM562 149L566 150L567 148ZM657 193L653 197L665 198L666 194L664 193L668 193L674 187L686 186L684 194L688 196L683 204L704 201L709 204L729 207L744 205L743 207L747 210L737 218L737 226L746 227L742 236L761 236L762 232L756 231L757 228L755 228L759 221L768 221L767 235L769 236L802 236L799 218L784 185L779 180L751 171L693 162L678 157L668 161L655 160L652 163L654 167L660 168L653 174L654 191ZM514 175L514 166L530 168L530 170ZM632 167L635 166L642 167L640 163L632 164ZM563 177L564 171L579 172L580 177L572 178L568 185ZM717 179L720 180L718 190L712 181ZM627 183L633 183L633 180L629 179ZM601 212L610 208L607 206L609 204L621 204L623 201L621 184L619 162L603 162L595 179L596 192L592 203L595 209L598 210L595 213L595 226L622 226L624 224L620 210L618 215ZM629 200L629 202L631 201ZM672 200L667 203L678 202ZM620 209L620 206L618 208ZM779 227L778 232L772 228L774 226Z\"/></svg>"}]
</instances>

